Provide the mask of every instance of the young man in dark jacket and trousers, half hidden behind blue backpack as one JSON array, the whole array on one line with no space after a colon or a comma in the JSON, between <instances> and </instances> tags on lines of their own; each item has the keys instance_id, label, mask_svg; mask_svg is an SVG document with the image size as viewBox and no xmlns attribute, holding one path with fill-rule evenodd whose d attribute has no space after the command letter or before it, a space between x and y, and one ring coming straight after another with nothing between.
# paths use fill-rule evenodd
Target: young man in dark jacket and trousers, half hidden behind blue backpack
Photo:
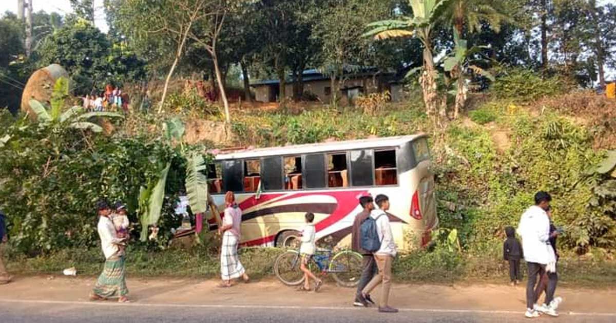
<instances>
[{"instance_id":1,"label":"young man in dark jacket and trousers, half hidden behind blue backpack","mask_svg":"<svg viewBox=\"0 0 616 323\"><path fill-rule=\"evenodd\" d=\"M351 249L354 252L360 253L363 257L363 265L362 265L362 277L357 284L357 291L355 292L355 299L353 301L353 306L368 306L368 303L374 304L375 302L370 298L370 294L365 295L362 299L362 290L368 285L368 282L372 280L375 274L378 271L376 268L376 261L373 254L367 250L363 250L361 247L361 232L360 226L363 221L365 221L368 217L370 217L370 212L375 209L375 205L373 204L373 199L371 196L362 196L359 198L359 205L362 207L362 212L359 212L355 215L355 220L353 221L353 226L351 229Z\"/></svg>"}]
</instances>

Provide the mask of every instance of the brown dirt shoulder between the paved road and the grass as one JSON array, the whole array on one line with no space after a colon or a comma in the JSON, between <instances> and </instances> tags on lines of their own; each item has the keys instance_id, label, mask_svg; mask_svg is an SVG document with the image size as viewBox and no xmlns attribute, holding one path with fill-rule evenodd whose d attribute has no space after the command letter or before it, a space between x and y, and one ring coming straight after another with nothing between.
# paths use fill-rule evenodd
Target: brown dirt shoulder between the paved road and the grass
<instances>
[{"instance_id":1,"label":"brown dirt shoulder between the paved road and the grass","mask_svg":"<svg viewBox=\"0 0 616 323\"><path fill-rule=\"evenodd\" d=\"M2 299L33 301L87 301L94 278L46 276L16 277L11 284L1 285ZM136 303L223 305L230 300L241 305L304 305L351 306L353 289L326 284L322 292L298 292L278 281L259 281L219 289L217 281L195 279L128 279L130 297ZM378 299L379 291L375 291ZM561 313L611 313L616 308L616 290L557 290L564 298ZM521 311L524 309L524 287L509 285L411 285L395 284L391 292L393 306L410 309L456 309L473 311ZM616 319L616 314L614 314Z\"/></svg>"}]
</instances>

